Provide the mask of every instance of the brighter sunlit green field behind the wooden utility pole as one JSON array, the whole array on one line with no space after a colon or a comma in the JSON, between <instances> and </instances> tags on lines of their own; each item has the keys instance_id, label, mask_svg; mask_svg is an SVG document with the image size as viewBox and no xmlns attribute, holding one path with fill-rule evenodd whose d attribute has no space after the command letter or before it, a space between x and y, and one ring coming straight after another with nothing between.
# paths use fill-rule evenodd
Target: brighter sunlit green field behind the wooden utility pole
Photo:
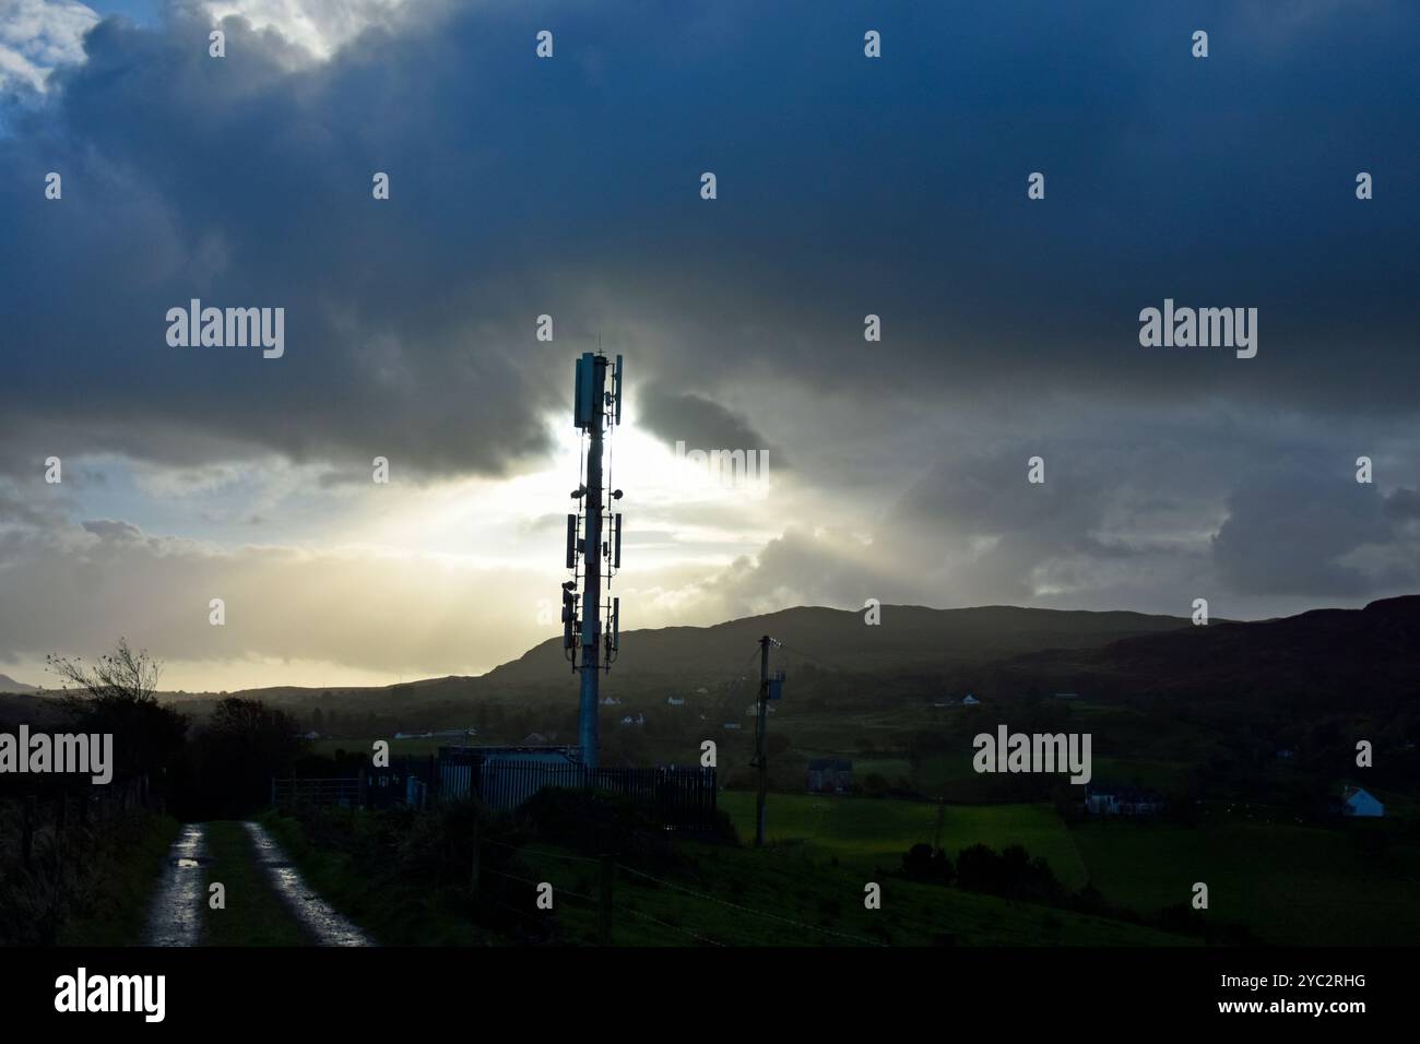
<instances>
[{"instance_id":1,"label":"brighter sunlit green field behind the wooden utility pole","mask_svg":"<svg viewBox=\"0 0 1420 1044\"><path fill-rule=\"evenodd\" d=\"M724 791L719 801L740 837L751 841L754 794ZM953 858L978 842L997 851L1024 845L1031 855L1049 862L1066 888L1081 888L1086 879L1069 831L1048 804L939 807L927 801L770 794L765 837L774 845L802 847L818 861L838 858L862 869L897 869L902 855L919 841L937 841Z\"/></svg>"}]
</instances>

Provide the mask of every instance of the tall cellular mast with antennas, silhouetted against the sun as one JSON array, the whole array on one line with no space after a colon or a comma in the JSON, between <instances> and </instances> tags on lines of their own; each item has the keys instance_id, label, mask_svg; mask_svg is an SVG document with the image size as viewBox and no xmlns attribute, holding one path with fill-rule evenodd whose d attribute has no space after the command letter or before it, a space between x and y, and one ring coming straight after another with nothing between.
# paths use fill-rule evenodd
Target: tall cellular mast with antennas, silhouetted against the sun
<instances>
[{"instance_id":1,"label":"tall cellular mast with antennas, silhouetted against the sun","mask_svg":"<svg viewBox=\"0 0 1420 1044\"><path fill-rule=\"evenodd\" d=\"M572 422L582 429L582 452L581 482L572 490L578 510L567 516L572 578L562 584L562 651L572 673L582 675L578 743L582 764L595 768L598 672L616 660L621 632L621 599L611 597L611 585L621 568L622 516L613 507L622 491L612 489L611 463L604 469L602 456L611 456L612 429L621 423L622 357L613 368L601 351L584 352L574 384Z\"/></svg>"}]
</instances>

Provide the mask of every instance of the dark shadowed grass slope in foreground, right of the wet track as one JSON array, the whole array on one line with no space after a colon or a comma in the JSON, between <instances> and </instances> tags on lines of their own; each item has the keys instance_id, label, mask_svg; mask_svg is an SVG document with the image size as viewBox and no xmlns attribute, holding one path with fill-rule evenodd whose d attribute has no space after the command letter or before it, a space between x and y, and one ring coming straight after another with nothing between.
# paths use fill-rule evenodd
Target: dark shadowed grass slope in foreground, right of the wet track
<instances>
[{"instance_id":1,"label":"dark shadowed grass slope in foreground, right of the wet track","mask_svg":"<svg viewBox=\"0 0 1420 1044\"><path fill-rule=\"evenodd\" d=\"M267 815L263 822L311 886L382 942L470 945L490 940L483 929L469 922L452 895L403 886L398 879L371 881L354 869L346 855L312 845L297 821ZM693 871L656 875L667 883L626 869L618 872L615 945L676 946L713 940L740 946L885 942L926 946L939 933L951 935L958 945L980 946L1190 945L1187 939L1127 923L886 876L878 879L861 865L832 866L797 847L754 851L683 842L682 852ZM554 913L565 942L595 942L599 868L594 861L540 845L523 849L507 869L554 886ZM863 886L873 879L882 885L880 910L863 906ZM527 902L530 918L537 918L531 886Z\"/></svg>"}]
</instances>

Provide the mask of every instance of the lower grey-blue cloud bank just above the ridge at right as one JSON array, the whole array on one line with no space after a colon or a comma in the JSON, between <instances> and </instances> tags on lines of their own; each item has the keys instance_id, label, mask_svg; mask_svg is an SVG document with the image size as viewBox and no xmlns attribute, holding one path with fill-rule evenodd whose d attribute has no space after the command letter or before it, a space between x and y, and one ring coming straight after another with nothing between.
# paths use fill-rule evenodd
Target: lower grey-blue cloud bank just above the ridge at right
<instances>
[{"instance_id":1,"label":"lower grey-blue cloud bank just above the ridge at right","mask_svg":"<svg viewBox=\"0 0 1420 1044\"><path fill-rule=\"evenodd\" d=\"M869 538L791 530L707 585L731 611L795 602L1132 608L1254 618L1359 605L1420 582L1409 486L1355 480L1321 436L1174 439L1133 446L1056 426L1047 446L953 447ZM1345 439L1339 439L1345 442ZM1044 484L1027 482L1042 455ZM1413 474L1414 467L1403 469Z\"/></svg>"}]
</instances>

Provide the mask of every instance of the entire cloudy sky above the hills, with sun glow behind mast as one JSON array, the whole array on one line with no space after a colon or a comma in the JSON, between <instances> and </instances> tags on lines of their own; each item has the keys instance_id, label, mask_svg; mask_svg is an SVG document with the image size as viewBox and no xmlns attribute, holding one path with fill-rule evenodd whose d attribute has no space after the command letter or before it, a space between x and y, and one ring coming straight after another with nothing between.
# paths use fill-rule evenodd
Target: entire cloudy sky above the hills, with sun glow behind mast
<instances>
[{"instance_id":1,"label":"entire cloudy sky above the hills, with sun glow behind mast","mask_svg":"<svg viewBox=\"0 0 1420 1044\"><path fill-rule=\"evenodd\" d=\"M0 672L515 658L598 337L623 626L1414 592L1417 99L1409 0L0 0ZM170 347L190 298L284 355ZM1142 347L1164 298L1257 308L1255 358Z\"/></svg>"}]
</instances>

